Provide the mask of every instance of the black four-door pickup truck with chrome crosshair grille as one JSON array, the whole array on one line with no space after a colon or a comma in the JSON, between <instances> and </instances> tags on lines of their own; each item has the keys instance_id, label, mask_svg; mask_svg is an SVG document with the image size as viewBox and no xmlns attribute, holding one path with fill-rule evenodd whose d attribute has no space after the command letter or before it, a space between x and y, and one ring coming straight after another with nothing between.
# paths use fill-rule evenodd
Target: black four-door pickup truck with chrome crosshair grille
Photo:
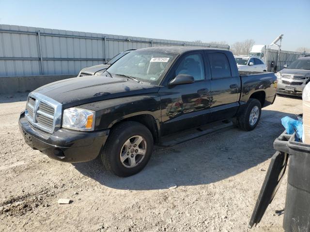
<instances>
[{"instance_id":1,"label":"black four-door pickup truck with chrome crosshair grille","mask_svg":"<svg viewBox=\"0 0 310 232\"><path fill-rule=\"evenodd\" d=\"M230 51L150 47L132 51L103 75L48 84L29 94L19 118L25 141L65 162L100 155L114 174L147 164L168 135L234 118L253 130L276 97L274 73L238 72Z\"/></svg>"}]
</instances>

